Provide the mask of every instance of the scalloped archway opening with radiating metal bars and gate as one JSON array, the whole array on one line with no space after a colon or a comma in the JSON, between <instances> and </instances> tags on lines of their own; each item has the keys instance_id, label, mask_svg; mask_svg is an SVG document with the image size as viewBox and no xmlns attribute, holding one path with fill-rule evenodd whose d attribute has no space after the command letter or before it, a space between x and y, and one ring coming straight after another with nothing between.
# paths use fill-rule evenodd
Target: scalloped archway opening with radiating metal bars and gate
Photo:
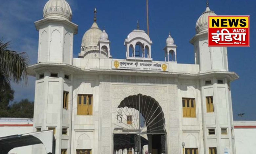
<instances>
[{"instance_id":1,"label":"scalloped archway opening with radiating metal bars and gate","mask_svg":"<svg viewBox=\"0 0 256 154\"><path fill-rule=\"evenodd\" d=\"M114 154L165 154L165 119L159 103L142 94L126 97L117 108Z\"/></svg>"}]
</instances>

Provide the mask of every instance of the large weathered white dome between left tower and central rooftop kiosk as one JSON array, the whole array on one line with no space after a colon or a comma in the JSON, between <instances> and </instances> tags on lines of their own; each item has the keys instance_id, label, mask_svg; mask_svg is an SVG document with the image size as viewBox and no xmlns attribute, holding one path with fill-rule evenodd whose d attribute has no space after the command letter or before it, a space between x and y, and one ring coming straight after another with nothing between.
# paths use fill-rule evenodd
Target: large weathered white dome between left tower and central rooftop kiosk
<instances>
[{"instance_id":1,"label":"large weathered white dome between left tower and central rooftop kiosk","mask_svg":"<svg viewBox=\"0 0 256 154\"><path fill-rule=\"evenodd\" d=\"M102 31L99 29L96 22L92 27L84 33L82 39L82 46L85 47L85 51L98 49L98 42Z\"/></svg>"}]
</instances>

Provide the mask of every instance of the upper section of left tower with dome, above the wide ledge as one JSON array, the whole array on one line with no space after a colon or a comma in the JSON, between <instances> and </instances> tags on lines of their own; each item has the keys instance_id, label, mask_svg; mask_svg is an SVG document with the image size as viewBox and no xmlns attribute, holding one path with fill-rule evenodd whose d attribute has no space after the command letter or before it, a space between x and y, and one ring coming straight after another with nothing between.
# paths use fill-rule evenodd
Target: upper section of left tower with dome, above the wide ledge
<instances>
[{"instance_id":1,"label":"upper section of left tower with dome, above the wide ledge","mask_svg":"<svg viewBox=\"0 0 256 154\"><path fill-rule=\"evenodd\" d=\"M73 63L73 36L77 25L71 22L72 10L65 0L49 0L44 19L36 21L39 31L38 63Z\"/></svg>"}]
</instances>

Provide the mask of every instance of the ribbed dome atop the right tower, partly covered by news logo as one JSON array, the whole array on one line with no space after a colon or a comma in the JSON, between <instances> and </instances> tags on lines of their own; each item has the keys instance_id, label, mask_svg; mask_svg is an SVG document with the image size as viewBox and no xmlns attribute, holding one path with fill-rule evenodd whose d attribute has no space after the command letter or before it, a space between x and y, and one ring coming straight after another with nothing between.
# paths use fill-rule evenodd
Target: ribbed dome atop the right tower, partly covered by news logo
<instances>
[{"instance_id":1,"label":"ribbed dome atop the right tower, partly covered by news logo","mask_svg":"<svg viewBox=\"0 0 256 154\"><path fill-rule=\"evenodd\" d=\"M217 14L215 14L213 11L211 11L209 7L206 7L206 10L203 12L203 14L197 20L197 23L196 23L197 34L206 32L208 30L208 16L209 15L217 15Z\"/></svg>"}]
</instances>

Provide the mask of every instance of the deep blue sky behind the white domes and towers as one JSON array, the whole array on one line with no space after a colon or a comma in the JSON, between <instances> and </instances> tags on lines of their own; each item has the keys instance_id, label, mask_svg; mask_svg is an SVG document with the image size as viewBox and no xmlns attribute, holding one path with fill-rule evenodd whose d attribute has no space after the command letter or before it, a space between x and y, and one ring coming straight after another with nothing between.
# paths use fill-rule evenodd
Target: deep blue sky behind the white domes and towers
<instances>
[{"instance_id":1,"label":"deep blue sky behind the white domes and towers","mask_svg":"<svg viewBox=\"0 0 256 154\"><path fill-rule=\"evenodd\" d=\"M114 58L125 58L123 41L139 20L140 29L146 30L146 0L67 0L73 10L72 22L78 25L74 37L74 57L80 50L83 34L93 23L97 8L97 24L105 27L111 41ZM47 0L0 0L0 37L11 41L11 48L25 51L31 64L37 61L38 32L34 21L42 19ZM149 0L150 38L153 41L153 60L164 60L163 48L171 32L177 48L178 63L194 64L194 50L189 40L195 35L195 24L205 10L205 0ZM210 0L210 9L217 15L250 15L250 47L228 48L229 70L240 79L231 83L234 119L239 112L245 120L256 120L256 2L255 0ZM12 84L15 101L34 99L34 81L27 87Z\"/></svg>"}]
</instances>

